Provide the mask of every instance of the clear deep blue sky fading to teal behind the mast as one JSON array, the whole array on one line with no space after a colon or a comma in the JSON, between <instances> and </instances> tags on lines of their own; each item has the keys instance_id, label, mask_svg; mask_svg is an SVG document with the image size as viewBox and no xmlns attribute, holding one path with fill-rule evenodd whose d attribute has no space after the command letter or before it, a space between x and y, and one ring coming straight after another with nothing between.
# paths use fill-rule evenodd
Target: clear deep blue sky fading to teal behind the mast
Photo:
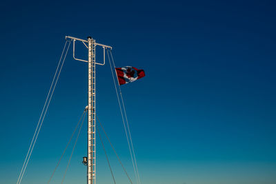
<instances>
[{"instance_id":1,"label":"clear deep blue sky fading to teal behind the mast","mask_svg":"<svg viewBox=\"0 0 276 184\"><path fill-rule=\"evenodd\" d=\"M276 13L273 1L4 1L1 5L0 183L16 183L70 35L112 45L141 182L276 183ZM97 53L101 53L100 51ZM86 49L77 45L78 57ZM99 54L98 54L99 55ZM101 57L99 56L99 59ZM46 183L86 106L87 65L72 50L22 183ZM132 180L108 65L97 113ZM98 141L97 183L112 183ZM128 183L106 143L117 183ZM52 183L61 183L69 148ZM66 183L86 183L82 130Z\"/></svg>"}]
</instances>

